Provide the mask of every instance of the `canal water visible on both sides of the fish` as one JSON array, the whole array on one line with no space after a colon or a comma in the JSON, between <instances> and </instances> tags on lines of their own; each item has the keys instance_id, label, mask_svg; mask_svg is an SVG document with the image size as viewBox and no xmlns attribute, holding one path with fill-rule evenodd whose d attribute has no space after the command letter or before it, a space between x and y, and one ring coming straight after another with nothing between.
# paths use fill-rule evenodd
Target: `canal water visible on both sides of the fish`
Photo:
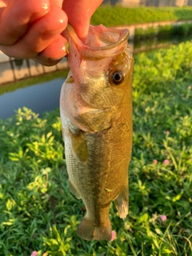
<instances>
[{"instance_id":1,"label":"canal water visible on both sides of the fish","mask_svg":"<svg viewBox=\"0 0 192 256\"><path fill-rule=\"evenodd\" d=\"M130 48L134 54L138 54L142 51L168 47L186 40L189 40L189 38L150 38L146 41L130 42ZM8 92L4 91L3 93L1 93L2 86L0 86L0 118L5 119L14 115L15 110L23 106L30 108L40 116L45 111L56 109L59 106L60 90L64 80L65 78L63 77L54 78L48 82L37 82L36 78L34 84L24 88L22 86L17 90L12 90L9 85L5 85ZM13 87L13 83L10 86Z\"/></svg>"}]
</instances>

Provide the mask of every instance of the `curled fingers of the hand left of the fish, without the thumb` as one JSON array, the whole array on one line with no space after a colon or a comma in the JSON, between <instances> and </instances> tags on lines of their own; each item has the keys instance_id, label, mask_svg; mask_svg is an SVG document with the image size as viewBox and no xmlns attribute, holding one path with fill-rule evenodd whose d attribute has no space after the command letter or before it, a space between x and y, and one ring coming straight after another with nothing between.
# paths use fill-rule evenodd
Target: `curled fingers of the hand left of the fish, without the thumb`
<instances>
[{"instance_id":1,"label":"curled fingers of the hand left of the fish, without the thumb","mask_svg":"<svg viewBox=\"0 0 192 256\"><path fill-rule=\"evenodd\" d=\"M66 54L61 33L68 19L59 6L49 0L0 0L0 6L0 50L5 54L48 66Z\"/></svg>"}]
</instances>

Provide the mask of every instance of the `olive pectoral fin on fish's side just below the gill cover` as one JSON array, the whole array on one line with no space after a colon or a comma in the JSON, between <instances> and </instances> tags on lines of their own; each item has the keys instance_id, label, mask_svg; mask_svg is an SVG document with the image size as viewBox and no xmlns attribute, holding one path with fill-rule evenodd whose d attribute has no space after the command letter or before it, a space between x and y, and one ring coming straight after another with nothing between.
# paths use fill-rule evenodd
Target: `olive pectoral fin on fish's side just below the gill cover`
<instances>
[{"instance_id":1,"label":"olive pectoral fin on fish's side just below the gill cover","mask_svg":"<svg viewBox=\"0 0 192 256\"><path fill-rule=\"evenodd\" d=\"M82 130L73 133L70 130L71 149L75 158L86 163L88 159L88 150L86 146L86 139L82 134Z\"/></svg>"}]
</instances>

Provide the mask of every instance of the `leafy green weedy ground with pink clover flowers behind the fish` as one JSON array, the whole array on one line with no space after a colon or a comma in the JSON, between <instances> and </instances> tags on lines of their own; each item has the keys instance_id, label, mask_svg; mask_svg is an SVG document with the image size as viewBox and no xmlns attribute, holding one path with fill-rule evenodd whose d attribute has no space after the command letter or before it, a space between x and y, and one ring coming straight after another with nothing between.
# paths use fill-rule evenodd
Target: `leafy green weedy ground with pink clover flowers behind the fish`
<instances>
[{"instance_id":1,"label":"leafy green weedy ground with pink clover flowers behind the fish","mask_svg":"<svg viewBox=\"0 0 192 256\"><path fill-rule=\"evenodd\" d=\"M192 255L191 56L186 42L135 57L130 213L112 204L114 242L76 234L85 208L68 190L58 110L0 120L1 256Z\"/></svg>"}]
</instances>

